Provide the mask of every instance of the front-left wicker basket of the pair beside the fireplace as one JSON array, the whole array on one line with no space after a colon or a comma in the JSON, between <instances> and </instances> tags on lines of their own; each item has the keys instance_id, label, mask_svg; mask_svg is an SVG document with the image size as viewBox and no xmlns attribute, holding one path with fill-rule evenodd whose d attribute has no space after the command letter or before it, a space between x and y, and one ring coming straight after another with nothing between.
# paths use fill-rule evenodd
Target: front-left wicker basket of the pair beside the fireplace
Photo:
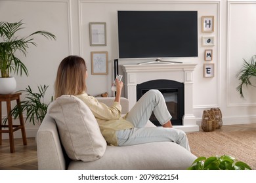
<instances>
[{"instance_id":1,"label":"front-left wicker basket of the pair beside the fireplace","mask_svg":"<svg viewBox=\"0 0 256 183\"><path fill-rule=\"evenodd\" d=\"M203 110L201 127L203 131L215 131L216 120L213 110Z\"/></svg>"}]
</instances>

